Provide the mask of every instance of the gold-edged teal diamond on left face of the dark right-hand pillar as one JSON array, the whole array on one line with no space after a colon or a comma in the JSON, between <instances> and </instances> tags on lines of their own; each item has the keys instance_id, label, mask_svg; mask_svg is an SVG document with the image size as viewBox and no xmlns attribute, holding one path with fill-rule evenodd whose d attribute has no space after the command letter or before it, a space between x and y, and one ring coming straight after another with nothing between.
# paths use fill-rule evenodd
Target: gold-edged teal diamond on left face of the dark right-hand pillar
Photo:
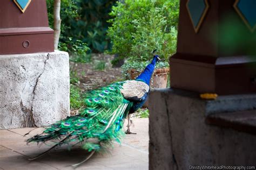
<instances>
[{"instance_id":1,"label":"gold-edged teal diamond on left face of the dark right-hand pillar","mask_svg":"<svg viewBox=\"0 0 256 170\"><path fill-rule=\"evenodd\" d=\"M187 8L190 11L192 23L194 27L197 27L201 17L203 16L206 4L204 0L190 0L187 4Z\"/></svg>"}]
</instances>

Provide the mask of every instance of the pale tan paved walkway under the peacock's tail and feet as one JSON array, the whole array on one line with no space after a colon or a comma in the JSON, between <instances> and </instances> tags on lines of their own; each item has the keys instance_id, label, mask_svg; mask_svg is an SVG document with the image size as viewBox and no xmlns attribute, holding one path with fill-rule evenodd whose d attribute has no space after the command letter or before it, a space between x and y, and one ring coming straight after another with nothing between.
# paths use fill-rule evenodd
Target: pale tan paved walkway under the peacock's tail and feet
<instances>
[{"instance_id":1,"label":"pale tan paved walkway under the peacock's tail and feet","mask_svg":"<svg viewBox=\"0 0 256 170\"><path fill-rule=\"evenodd\" d=\"M148 169L149 164L149 119L133 119L132 132L126 135L122 145L114 143L110 153L95 154L76 169ZM42 158L33 161L28 159L46 151L49 146L36 144L26 145L25 140L42 131L33 130L28 137L24 137L32 128L0 130L0 169L73 169L76 164L86 157L86 152L79 147L71 151L66 147L46 153Z\"/></svg>"}]
</instances>

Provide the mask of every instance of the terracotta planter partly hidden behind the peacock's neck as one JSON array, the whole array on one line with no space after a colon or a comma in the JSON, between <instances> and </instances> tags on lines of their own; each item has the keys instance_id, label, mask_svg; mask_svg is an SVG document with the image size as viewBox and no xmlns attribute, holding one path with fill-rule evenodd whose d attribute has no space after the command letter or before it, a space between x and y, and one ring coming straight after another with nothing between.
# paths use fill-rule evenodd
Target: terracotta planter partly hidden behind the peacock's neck
<instances>
[{"instance_id":1,"label":"terracotta planter partly hidden behind the peacock's neck","mask_svg":"<svg viewBox=\"0 0 256 170\"><path fill-rule=\"evenodd\" d=\"M128 71L130 75L130 79L134 80L140 72L136 69L130 69ZM167 87L167 79L169 74L169 68L158 68L154 70L154 73L151 77L150 89L157 89L157 88L166 88ZM147 108L149 105L148 101L145 102L143 108Z\"/></svg>"}]
</instances>

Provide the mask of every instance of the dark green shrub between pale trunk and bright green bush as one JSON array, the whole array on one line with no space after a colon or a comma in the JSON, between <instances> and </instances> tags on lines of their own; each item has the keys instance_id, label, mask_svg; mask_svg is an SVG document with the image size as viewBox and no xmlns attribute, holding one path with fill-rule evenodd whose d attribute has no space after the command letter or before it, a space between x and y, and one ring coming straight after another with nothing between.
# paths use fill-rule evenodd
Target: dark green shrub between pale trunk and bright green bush
<instances>
[{"instance_id":1,"label":"dark green shrub between pale trunk and bright green bush","mask_svg":"<svg viewBox=\"0 0 256 170\"><path fill-rule=\"evenodd\" d=\"M66 0L67 1L67 0ZM66 17L63 23L70 25L64 35L73 37L74 40L82 40L92 52L103 52L110 49L109 38L106 37L106 21L110 19L108 13L111 11L115 0L69 0L75 2L79 16L76 18ZM72 6L72 5L71 5ZM75 13L72 13L75 14Z\"/></svg>"}]
</instances>

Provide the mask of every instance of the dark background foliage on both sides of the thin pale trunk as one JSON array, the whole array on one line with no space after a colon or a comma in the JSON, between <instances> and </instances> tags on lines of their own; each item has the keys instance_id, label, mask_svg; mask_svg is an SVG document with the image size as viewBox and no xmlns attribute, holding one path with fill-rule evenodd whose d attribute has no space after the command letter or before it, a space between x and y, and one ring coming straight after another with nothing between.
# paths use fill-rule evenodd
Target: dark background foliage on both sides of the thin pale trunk
<instances>
[{"instance_id":1,"label":"dark background foliage on both sides of the thin pale trunk","mask_svg":"<svg viewBox=\"0 0 256 170\"><path fill-rule=\"evenodd\" d=\"M110 19L109 12L115 0L62 0L60 44L76 44L77 40L87 44L91 52L110 49L110 39L106 37ZM47 0L49 25L53 28L54 0ZM70 40L71 38L71 40ZM62 45L60 45L62 47ZM72 51L72 48L70 48Z\"/></svg>"}]
</instances>

